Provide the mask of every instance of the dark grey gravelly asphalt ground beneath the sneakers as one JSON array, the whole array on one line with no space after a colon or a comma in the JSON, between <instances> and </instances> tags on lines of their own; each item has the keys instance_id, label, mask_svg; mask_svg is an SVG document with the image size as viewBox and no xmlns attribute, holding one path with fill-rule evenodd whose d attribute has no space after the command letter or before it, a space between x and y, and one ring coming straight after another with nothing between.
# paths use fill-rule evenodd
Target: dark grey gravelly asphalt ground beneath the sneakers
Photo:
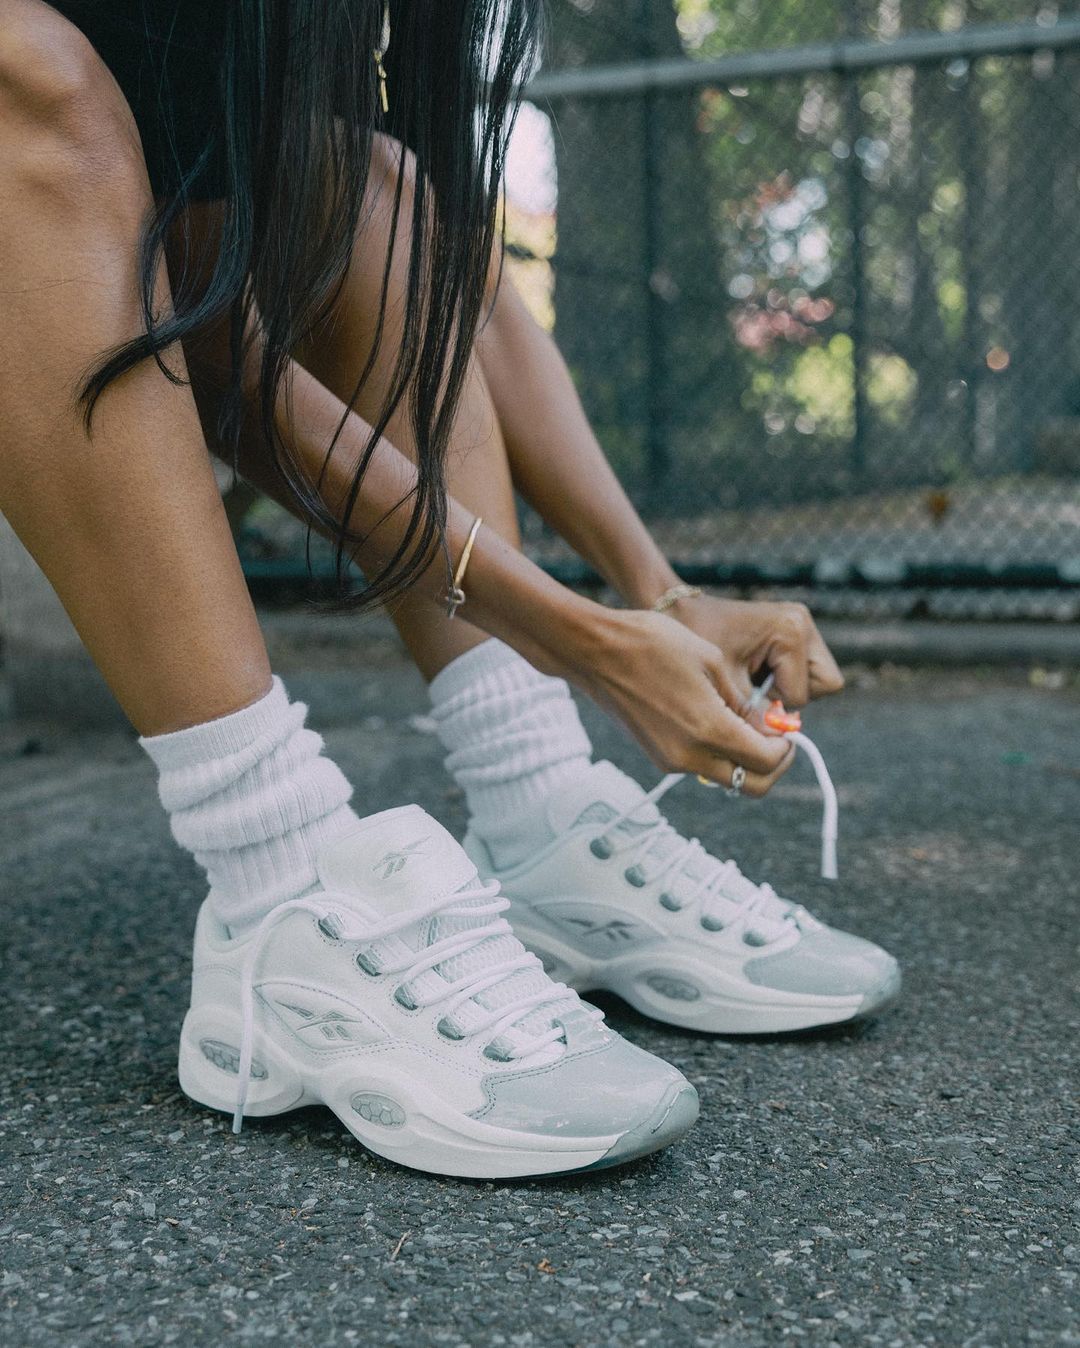
<instances>
[{"instance_id":1,"label":"dark grey gravelly asphalt ground beneath the sneakers","mask_svg":"<svg viewBox=\"0 0 1080 1348\"><path fill-rule=\"evenodd\" d=\"M464 822L378 634L275 659L357 786ZM392 677L388 677L392 675ZM893 949L899 1007L709 1039L612 1023L690 1077L697 1128L624 1170L440 1181L326 1112L249 1123L174 1076L201 899L129 736L0 727L0 1337L38 1344L1080 1344L1080 690L856 671L810 728L841 783L814 878L801 770L669 813ZM600 748L642 767L591 717ZM783 847L778 847L785 840Z\"/></svg>"}]
</instances>

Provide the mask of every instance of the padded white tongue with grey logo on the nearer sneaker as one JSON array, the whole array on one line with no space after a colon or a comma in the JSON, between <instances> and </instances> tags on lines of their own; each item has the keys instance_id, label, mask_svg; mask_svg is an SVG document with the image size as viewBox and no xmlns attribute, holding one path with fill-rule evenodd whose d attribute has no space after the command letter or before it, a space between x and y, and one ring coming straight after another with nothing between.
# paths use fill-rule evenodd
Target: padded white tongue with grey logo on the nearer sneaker
<instances>
[{"instance_id":1,"label":"padded white tongue with grey logo on the nearer sneaker","mask_svg":"<svg viewBox=\"0 0 1080 1348\"><path fill-rule=\"evenodd\" d=\"M325 890L355 895L382 917L429 907L476 879L465 851L418 805L363 820L322 849L316 868Z\"/></svg>"}]
</instances>

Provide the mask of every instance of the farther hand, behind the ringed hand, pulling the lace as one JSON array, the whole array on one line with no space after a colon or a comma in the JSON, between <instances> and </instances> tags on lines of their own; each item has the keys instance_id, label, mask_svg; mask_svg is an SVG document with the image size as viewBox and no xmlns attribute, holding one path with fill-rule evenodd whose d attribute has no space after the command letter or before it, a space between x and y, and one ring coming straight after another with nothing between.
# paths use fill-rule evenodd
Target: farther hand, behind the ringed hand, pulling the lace
<instances>
[{"instance_id":1,"label":"farther hand, behind the ringed hand, pulling the lace","mask_svg":"<svg viewBox=\"0 0 1080 1348\"><path fill-rule=\"evenodd\" d=\"M764 674L775 675L775 690L786 706L804 706L813 697L839 693L844 675L814 625L805 604L746 603L735 599L680 600L671 616L719 646L738 701L750 697L751 687Z\"/></svg>"}]
</instances>

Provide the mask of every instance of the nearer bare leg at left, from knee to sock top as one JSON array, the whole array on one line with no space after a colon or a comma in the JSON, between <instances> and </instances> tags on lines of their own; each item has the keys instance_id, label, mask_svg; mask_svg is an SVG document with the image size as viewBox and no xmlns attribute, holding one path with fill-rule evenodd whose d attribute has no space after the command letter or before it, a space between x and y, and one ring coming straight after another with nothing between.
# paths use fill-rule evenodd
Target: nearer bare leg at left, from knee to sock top
<instances>
[{"instance_id":1,"label":"nearer bare leg at left, from knee to sock top","mask_svg":"<svg viewBox=\"0 0 1080 1348\"><path fill-rule=\"evenodd\" d=\"M143 735L270 686L190 392L144 364L107 392L92 437L77 406L86 371L142 328L150 205L93 49L39 0L0 0L0 510Z\"/></svg>"}]
</instances>

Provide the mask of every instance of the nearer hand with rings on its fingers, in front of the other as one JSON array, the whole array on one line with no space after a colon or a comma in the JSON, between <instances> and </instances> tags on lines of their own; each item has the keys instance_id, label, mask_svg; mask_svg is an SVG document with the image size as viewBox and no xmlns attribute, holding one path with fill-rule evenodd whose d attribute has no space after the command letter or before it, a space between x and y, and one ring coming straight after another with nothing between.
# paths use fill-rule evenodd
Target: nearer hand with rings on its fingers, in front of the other
<instances>
[{"instance_id":1,"label":"nearer hand with rings on its fingers, in front of the other","mask_svg":"<svg viewBox=\"0 0 1080 1348\"><path fill-rule=\"evenodd\" d=\"M790 767L794 745L732 710L748 689L725 655L663 613L600 612L569 677L619 716L659 767L729 786L739 764L743 793L764 795Z\"/></svg>"}]
</instances>

